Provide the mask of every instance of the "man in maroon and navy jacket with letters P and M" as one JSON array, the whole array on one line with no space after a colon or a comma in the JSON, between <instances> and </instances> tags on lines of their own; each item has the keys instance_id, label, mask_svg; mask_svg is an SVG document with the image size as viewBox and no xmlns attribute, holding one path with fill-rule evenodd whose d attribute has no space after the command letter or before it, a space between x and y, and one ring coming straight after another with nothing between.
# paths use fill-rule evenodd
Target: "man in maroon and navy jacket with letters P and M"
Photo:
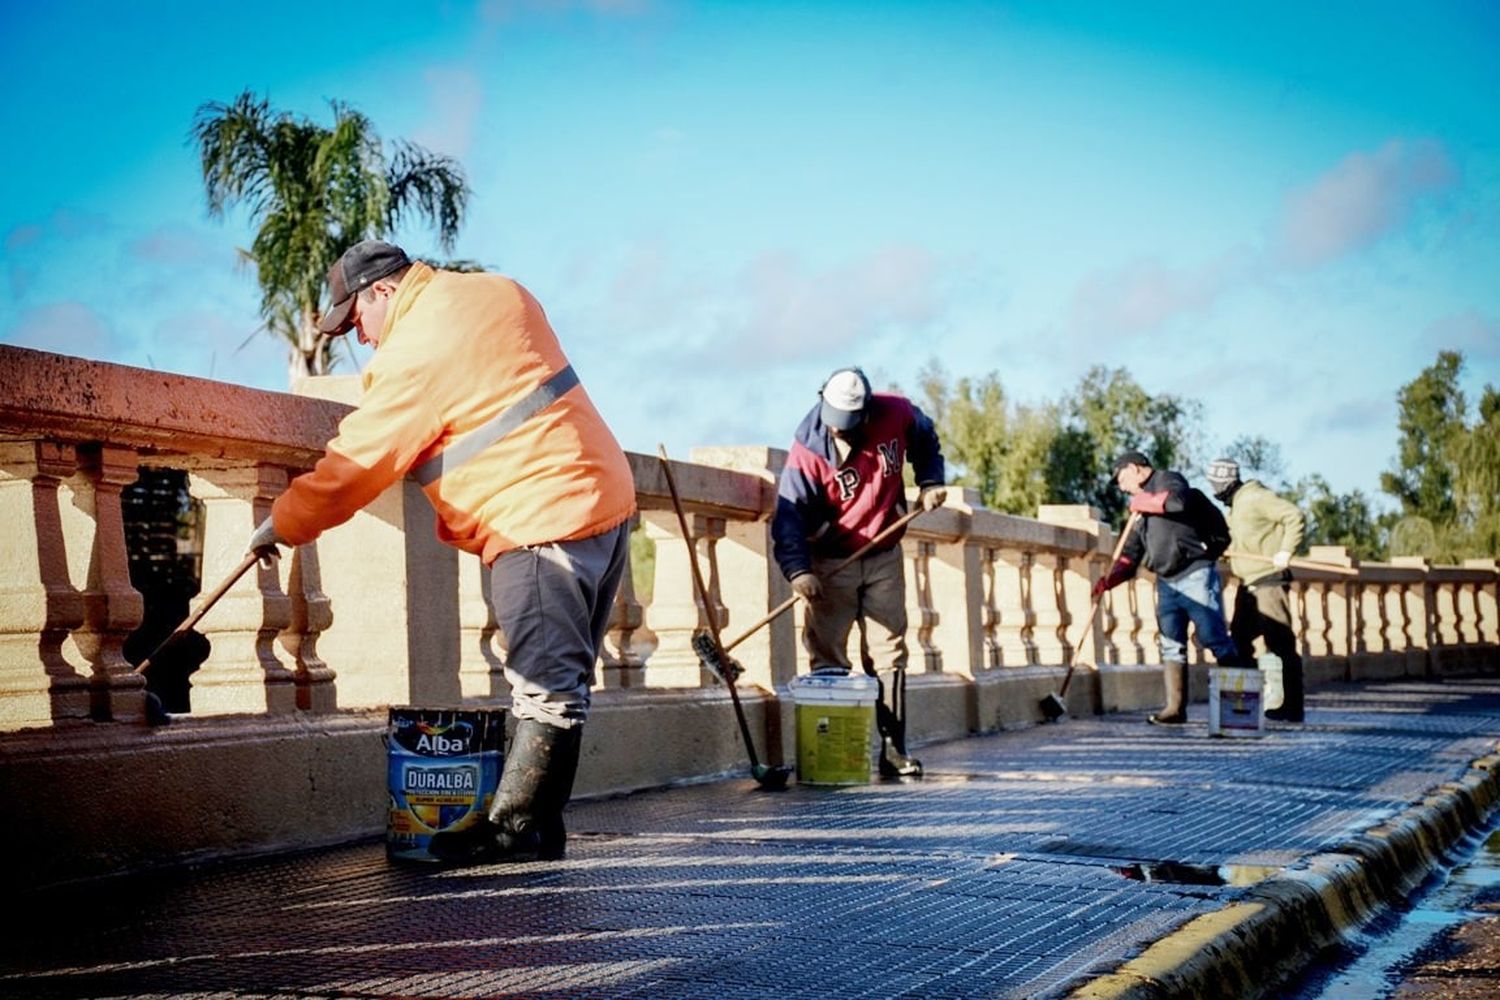
<instances>
[{"instance_id":1,"label":"man in maroon and navy jacket with letters P and M","mask_svg":"<svg viewBox=\"0 0 1500 1000\"><path fill-rule=\"evenodd\" d=\"M882 687L876 720L884 777L922 772L906 753L902 532L838 573L832 568L906 511L908 457L921 487L918 502L940 507L946 492L932 420L903 396L872 393L860 369L838 369L796 427L771 522L777 565L807 601L802 645L813 666L849 669L849 631L860 625L864 669Z\"/></svg>"}]
</instances>

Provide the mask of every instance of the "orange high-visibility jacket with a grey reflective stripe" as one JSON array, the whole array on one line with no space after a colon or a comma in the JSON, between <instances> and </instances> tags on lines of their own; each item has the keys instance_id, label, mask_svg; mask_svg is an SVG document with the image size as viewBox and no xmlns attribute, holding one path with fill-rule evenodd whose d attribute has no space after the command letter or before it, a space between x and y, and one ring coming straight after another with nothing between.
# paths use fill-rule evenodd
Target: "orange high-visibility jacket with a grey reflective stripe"
<instances>
[{"instance_id":1,"label":"orange high-visibility jacket with a grey reflective stripe","mask_svg":"<svg viewBox=\"0 0 1500 1000\"><path fill-rule=\"evenodd\" d=\"M316 468L276 498L276 534L306 544L414 468L432 478L435 465L441 475L423 490L438 537L486 564L624 523L636 510L630 463L582 385L472 457L435 459L486 441L486 424L567 364L540 303L516 282L414 264L390 301L358 409Z\"/></svg>"}]
</instances>

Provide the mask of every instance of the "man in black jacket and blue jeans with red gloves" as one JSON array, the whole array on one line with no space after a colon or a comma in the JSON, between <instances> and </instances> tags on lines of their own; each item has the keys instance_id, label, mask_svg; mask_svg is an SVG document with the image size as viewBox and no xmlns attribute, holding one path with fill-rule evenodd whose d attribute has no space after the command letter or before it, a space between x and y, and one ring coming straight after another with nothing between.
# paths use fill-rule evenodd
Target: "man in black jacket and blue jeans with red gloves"
<instances>
[{"instance_id":1,"label":"man in black jacket and blue jeans with red gloves","mask_svg":"<svg viewBox=\"0 0 1500 1000\"><path fill-rule=\"evenodd\" d=\"M1114 460L1114 483L1130 493L1140 514L1120 558L1094 585L1094 595L1124 583L1140 567L1156 574L1156 627L1161 631L1166 706L1148 718L1154 726L1188 721L1188 622L1198 642L1222 666L1239 663L1224 625L1218 558L1228 547L1228 526L1214 502L1178 472L1154 469L1140 451Z\"/></svg>"}]
</instances>

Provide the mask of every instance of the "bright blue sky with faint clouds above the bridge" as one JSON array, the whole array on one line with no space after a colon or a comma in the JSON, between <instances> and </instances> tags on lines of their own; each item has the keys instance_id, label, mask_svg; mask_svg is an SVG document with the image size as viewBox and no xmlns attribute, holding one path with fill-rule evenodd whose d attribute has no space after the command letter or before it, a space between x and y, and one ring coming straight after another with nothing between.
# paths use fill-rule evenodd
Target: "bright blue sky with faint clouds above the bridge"
<instances>
[{"instance_id":1,"label":"bright blue sky with faint clouds above the bridge","mask_svg":"<svg viewBox=\"0 0 1500 1000\"><path fill-rule=\"evenodd\" d=\"M849 363L1022 402L1107 364L1200 400L1204 460L1262 435L1374 495L1438 349L1500 385L1494 4L230 10L0 7L0 342L285 387L186 141L250 88L458 157L454 256L537 294L632 450L784 447Z\"/></svg>"}]
</instances>

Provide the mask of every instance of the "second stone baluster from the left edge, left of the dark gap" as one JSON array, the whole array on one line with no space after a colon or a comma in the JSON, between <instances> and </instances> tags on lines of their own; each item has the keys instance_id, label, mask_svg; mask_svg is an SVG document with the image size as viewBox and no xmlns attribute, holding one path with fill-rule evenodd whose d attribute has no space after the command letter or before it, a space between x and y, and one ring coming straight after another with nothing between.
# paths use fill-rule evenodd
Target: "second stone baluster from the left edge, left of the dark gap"
<instances>
[{"instance_id":1,"label":"second stone baluster from the left edge, left of the dark gap","mask_svg":"<svg viewBox=\"0 0 1500 1000\"><path fill-rule=\"evenodd\" d=\"M120 490L138 478L134 451L88 445L78 448L78 472L63 486L70 493L63 505L63 531L69 538L87 538L69 546L68 555L74 585L84 595L84 622L74 631L74 642L93 669L96 720L138 723L146 717L146 678L122 652L146 615L146 603L130 586L120 507Z\"/></svg>"}]
</instances>

